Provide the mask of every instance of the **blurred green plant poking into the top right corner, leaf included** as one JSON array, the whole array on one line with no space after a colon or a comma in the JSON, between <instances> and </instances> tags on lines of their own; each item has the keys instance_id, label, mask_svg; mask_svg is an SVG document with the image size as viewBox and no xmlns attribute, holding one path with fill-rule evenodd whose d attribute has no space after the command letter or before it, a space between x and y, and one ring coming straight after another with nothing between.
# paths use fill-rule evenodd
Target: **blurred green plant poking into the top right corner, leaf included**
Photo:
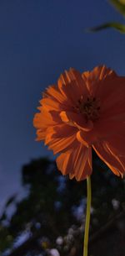
<instances>
[{"instance_id":1,"label":"blurred green plant poking into the top right corner, leaf included","mask_svg":"<svg viewBox=\"0 0 125 256\"><path fill-rule=\"evenodd\" d=\"M110 0L109 3L122 14L123 18L125 16L125 1L124 0ZM125 34L125 24L120 24L118 22L107 22L105 24L101 24L99 26L93 27L91 29L87 29L89 32L97 32L102 29L116 29L120 33Z\"/></svg>"}]
</instances>

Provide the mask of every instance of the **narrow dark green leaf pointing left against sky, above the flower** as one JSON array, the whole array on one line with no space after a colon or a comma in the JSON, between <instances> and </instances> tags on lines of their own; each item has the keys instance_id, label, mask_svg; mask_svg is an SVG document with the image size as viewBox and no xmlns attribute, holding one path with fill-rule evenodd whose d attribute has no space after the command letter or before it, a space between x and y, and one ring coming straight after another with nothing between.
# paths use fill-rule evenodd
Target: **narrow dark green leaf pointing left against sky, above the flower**
<instances>
[{"instance_id":1,"label":"narrow dark green leaf pointing left against sky, above the flower","mask_svg":"<svg viewBox=\"0 0 125 256\"><path fill-rule=\"evenodd\" d=\"M106 23L106 24L102 24L97 27L94 27L92 29L87 29L87 32L97 32L102 29L111 29L111 28L118 30L122 34L125 34L125 24L119 24L115 22Z\"/></svg>"}]
</instances>

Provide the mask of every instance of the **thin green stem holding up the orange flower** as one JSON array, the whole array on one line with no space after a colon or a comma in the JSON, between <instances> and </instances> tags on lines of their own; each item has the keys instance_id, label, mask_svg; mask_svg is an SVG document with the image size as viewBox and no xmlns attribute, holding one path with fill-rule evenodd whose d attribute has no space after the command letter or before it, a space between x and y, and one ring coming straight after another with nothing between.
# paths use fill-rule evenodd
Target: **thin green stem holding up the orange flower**
<instances>
[{"instance_id":1,"label":"thin green stem holding up the orange flower","mask_svg":"<svg viewBox=\"0 0 125 256\"><path fill-rule=\"evenodd\" d=\"M91 179L87 177L87 215L84 232L83 256L87 256L88 232L90 223L90 209L91 209Z\"/></svg>"}]
</instances>

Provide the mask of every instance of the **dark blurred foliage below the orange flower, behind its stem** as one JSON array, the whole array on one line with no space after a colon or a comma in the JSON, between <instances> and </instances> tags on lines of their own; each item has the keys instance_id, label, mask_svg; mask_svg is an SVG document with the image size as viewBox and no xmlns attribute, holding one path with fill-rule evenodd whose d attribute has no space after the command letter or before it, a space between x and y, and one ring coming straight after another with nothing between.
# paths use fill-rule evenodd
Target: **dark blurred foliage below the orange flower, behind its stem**
<instances>
[{"instance_id":1,"label":"dark blurred foliage below the orange flower, behind its stem","mask_svg":"<svg viewBox=\"0 0 125 256\"><path fill-rule=\"evenodd\" d=\"M103 231L100 227L107 222L109 226L112 224L112 230L116 225L124 230L122 219L117 216L124 212L125 183L112 175L96 154L93 159L90 253L98 256L102 248L99 250L97 246L93 254L93 246L101 239ZM82 255L85 182L77 183L62 177L49 159L36 159L23 166L23 186L27 193L22 201L11 196L3 209L0 255L51 256L56 250L60 256ZM8 217L7 212L12 206L16 211ZM102 238L103 243L106 238L110 239L109 233ZM107 256L111 251L109 249ZM102 256L104 253L101 252Z\"/></svg>"}]
</instances>

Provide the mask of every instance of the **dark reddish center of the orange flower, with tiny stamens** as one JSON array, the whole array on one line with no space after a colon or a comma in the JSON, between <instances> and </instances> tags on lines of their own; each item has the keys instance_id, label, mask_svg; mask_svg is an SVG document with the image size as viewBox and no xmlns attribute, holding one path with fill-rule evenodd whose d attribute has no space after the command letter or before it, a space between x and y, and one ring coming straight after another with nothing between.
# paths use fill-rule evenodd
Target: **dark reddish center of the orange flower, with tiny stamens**
<instances>
[{"instance_id":1,"label":"dark reddish center of the orange flower, with tiny stamens","mask_svg":"<svg viewBox=\"0 0 125 256\"><path fill-rule=\"evenodd\" d=\"M100 116L100 101L96 97L82 97L77 101L77 111L82 113L86 120L96 121Z\"/></svg>"}]
</instances>

